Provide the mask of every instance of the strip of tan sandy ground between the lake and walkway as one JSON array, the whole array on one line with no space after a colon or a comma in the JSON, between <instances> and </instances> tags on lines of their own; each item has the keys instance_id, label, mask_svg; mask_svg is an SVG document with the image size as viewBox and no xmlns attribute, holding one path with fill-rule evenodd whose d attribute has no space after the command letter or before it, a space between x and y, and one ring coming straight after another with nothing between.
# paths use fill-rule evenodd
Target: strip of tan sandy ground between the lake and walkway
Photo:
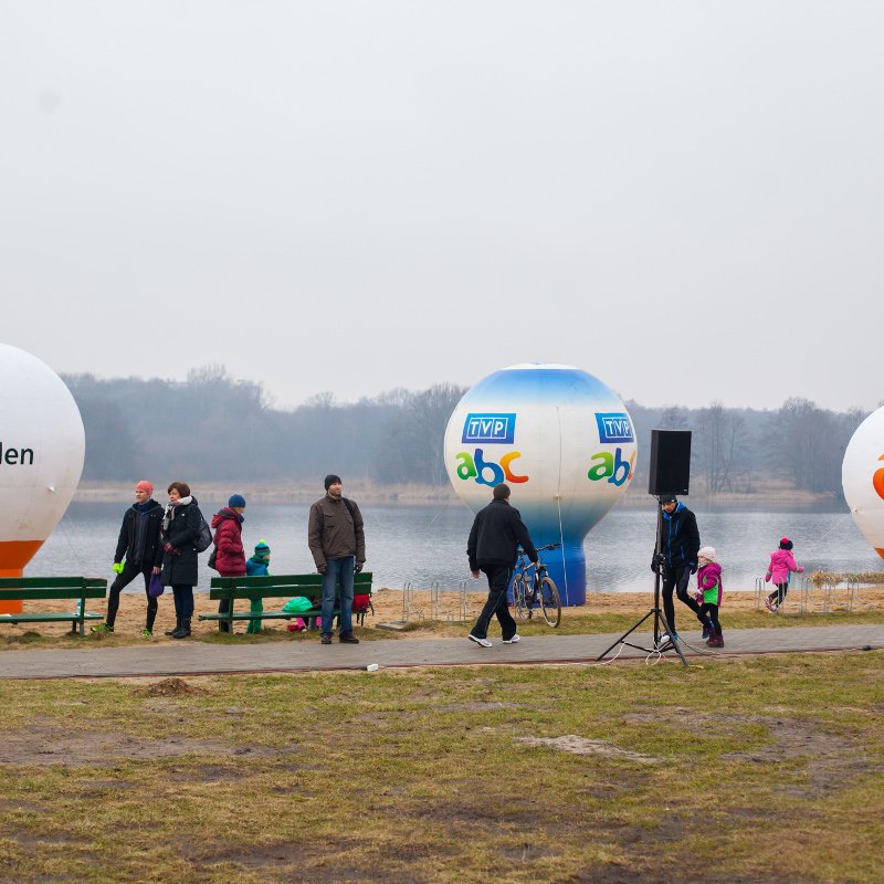
<instances>
[{"instance_id":1,"label":"strip of tan sandy ground between the lake and walkway","mask_svg":"<svg viewBox=\"0 0 884 884\"><path fill-rule=\"evenodd\" d=\"M793 590L787 602L787 610L798 610L799 592ZM197 592L196 596L197 613L209 613L217 610L215 603L209 600L208 592ZM562 617L575 617L578 614L603 614L603 613L638 613L644 612L650 607L653 596L650 591L643 592L598 592L592 593L587 604L579 608L565 608ZM835 591L834 606L843 607L848 600L848 591L840 588ZM401 620L441 620L461 621L472 620L476 617L485 601L485 593L482 591L467 593L464 601L457 592L442 592L438 599L433 599L429 590L415 590L411 598L407 599L401 590L380 589L372 596L375 615L366 618L366 629L377 629L379 623L396 622ZM822 590L814 590L813 607L819 610L822 603ZM66 602L53 601L27 601L25 611L65 611ZM269 600L265 602L267 610L278 610L282 608L283 600ZM246 610L246 603L240 602L236 610ZM723 603L724 610L750 611L756 607L754 592L726 592ZM71 606L73 610L73 606ZM861 591L861 604L857 610L884 610L884 587L863 587ZM86 611L103 613L105 606L101 602L86 603ZM96 621L97 622L97 621ZM270 621L269 625L282 629L284 621ZM159 612L157 622L154 627L154 641L169 641L162 633L175 625L175 607L170 592L164 593L159 599ZM120 599L119 612L116 621L116 632L125 635L136 635L145 628L145 601L143 596L124 592ZM193 619L192 628L194 633L204 634L218 630L218 625L211 621L200 622ZM87 624L88 629L88 624ZM238 632L245 631L245 623L240 622L235 627ZM70 630L66 623L20 623L3 627L0 635L11 638L21 635L24 632L39 632L41 635L60 635ZM432 633L428 636L438 638ZM421 631L409 633L410 638L419 638Z\"/></svg>"}]
</instances>

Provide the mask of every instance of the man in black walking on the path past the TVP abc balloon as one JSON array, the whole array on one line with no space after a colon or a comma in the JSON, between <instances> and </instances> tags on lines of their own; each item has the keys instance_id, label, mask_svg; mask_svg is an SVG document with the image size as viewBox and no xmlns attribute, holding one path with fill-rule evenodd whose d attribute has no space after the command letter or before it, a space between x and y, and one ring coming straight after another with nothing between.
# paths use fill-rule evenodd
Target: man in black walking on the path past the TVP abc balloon
<instances>
[{"instance_id":1,"label":"man in black walking on the path past the TVP abc balloon","mask_svg":"<svg viewBox=\"0 0 884 884\"><path fill-rule=\"evenodd\" d=\"M484 571L488 578L488 599L469 635L470 641L482 648L491 648L488 624L495 614L501 623L504 644L515 644L519 640L506 598L516 564L516 550L522 546L528 558L537 561L537 550L528 529L518 509L509 505L509 486L495 485L493 495L492 502L476 513L466 543L473 579L478 580L480 571Z\"/></svg>"}]
</instances>

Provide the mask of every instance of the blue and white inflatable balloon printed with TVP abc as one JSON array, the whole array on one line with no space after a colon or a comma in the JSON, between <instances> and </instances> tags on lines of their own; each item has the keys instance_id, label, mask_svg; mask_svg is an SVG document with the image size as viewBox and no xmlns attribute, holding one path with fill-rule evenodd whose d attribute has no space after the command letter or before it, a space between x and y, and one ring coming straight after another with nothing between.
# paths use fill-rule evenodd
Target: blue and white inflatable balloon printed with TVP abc
<instances>
[{"instance_id":1,"label":"blue and white inflatable balloon printed with TVP abc","mask_svg":"<svg viewBox=\"0 0 884 884\"><path fill-rule=\"evenodd\" d=\"M562 603L583 604L583 538L629 487L636 444L620 398L579 368L517 365L495 371L457 403L445 430L445 469L478 512L509 485Z\"/></svg>"}]
</instances>

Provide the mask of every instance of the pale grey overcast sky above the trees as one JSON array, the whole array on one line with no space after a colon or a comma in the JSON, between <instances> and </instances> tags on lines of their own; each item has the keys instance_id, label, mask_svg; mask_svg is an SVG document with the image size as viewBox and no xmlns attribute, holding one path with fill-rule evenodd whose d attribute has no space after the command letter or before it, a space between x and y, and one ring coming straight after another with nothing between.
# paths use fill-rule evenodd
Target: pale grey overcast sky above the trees
<instances>
[{"instance_id":1,"label":"pale grey overcast sky above the trees","mask_svg":"<svg viewBox=\"0 0 884 884\"><path fill-rule=\"evenodd\" d=\"M276 404L884 399L884 3L0 0L0 339Z\"/></svg>"}]
</instances>

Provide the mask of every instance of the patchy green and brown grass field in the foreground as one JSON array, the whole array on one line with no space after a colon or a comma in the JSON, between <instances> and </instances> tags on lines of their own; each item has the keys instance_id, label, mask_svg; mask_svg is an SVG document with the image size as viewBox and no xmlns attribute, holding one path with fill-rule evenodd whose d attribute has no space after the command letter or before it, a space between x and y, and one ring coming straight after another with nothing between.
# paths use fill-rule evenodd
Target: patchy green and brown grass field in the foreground
<instances>
[{"instance_id":1,"label":"patchy green and brown grass field in the foreground","mask_svg":"<svg viewBox=\"0 0 884 884\"><path fill-rule=\"evenodd\" d=\"M0 682L0 877L871 884L882 663Z\"/></svg>"}]
</instances>

